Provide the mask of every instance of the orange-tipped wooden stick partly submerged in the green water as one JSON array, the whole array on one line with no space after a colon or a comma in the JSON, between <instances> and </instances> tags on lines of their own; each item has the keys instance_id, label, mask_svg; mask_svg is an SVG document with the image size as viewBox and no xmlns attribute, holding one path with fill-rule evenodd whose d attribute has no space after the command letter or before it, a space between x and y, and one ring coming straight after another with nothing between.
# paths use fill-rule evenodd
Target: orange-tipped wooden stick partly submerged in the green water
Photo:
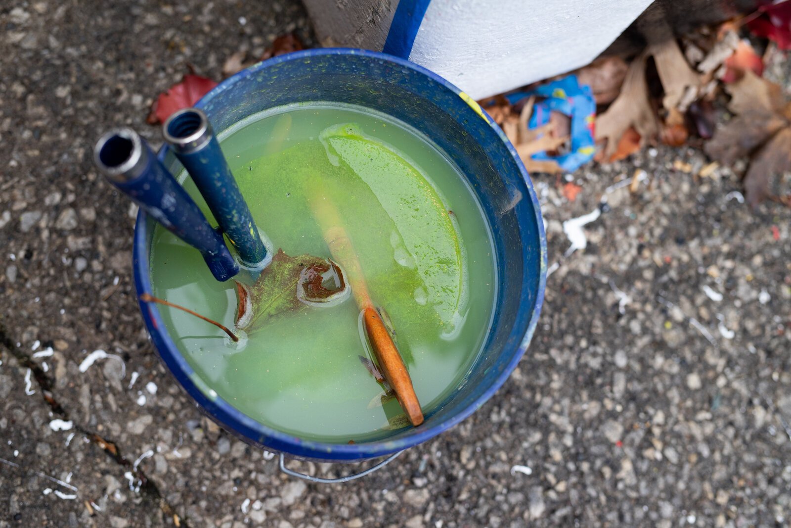
<instances>
[{"instance_id":1,"label":"orange-tipped wooden stick partly submerged in the green water","mask_svg":"<svg viewBox=\"0 0 791 528\"><path fill-rule=\"evenodd\" d=\"M420 409L418 395L414 393L412 378L409 376L407 366L403 364L401 354L395 347L390 332L384 326L384 322L371 300L360 260L354 251L349 235L343 229L338 210L335 208L335 204L326 196L321 196L321 193L316 193L316 196L313 196L310 201L313 215L316 216L316 220L321 226L332 258L343 266L346 279L351 285L354 301L362 310L365 332L368 334L373 353L377 356L379 368L395 392L395 398L401 404L409 421L412 425L420 425L423 423L423 412Z\"/></svg>"}]
</instances>

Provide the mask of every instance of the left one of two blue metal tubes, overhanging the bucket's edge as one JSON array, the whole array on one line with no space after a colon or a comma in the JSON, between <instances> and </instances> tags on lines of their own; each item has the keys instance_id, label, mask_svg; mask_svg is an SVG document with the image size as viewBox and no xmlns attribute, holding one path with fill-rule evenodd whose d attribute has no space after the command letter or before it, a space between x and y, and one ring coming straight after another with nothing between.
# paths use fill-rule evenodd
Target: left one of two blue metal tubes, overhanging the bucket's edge
<instances>
[{"instance_id":1,"label":"left one of two blue metal tubes, overhanging the bucket's edge","mask_svg":"<svg viewBox=\"0 0 791 528\"><path fill-rule=\"evenodd\" d=\"M239 265L212 229L198 204L165 169L145 139L130 128L109 131L94 149L94 161L119 191L187 244L193 246L220 281L239 272Z\"/></svg>"}]
</instances>

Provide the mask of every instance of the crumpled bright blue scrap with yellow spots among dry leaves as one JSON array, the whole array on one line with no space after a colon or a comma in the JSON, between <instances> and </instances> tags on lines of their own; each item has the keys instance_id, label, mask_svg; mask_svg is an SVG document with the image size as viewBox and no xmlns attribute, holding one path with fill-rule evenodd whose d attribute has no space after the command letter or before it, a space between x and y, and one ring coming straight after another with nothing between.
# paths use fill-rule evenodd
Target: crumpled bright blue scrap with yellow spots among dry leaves
<instances>
[{"instance_id":1,"label":"crumpled bright blue scrap with yellow spots among dry leaves","mask_svg":"<svg viewBox=\"0 0 791 528\"><path fill-rule=\"evenodd\" d=\"M531 158L538 161L556 161L567 173L591 161L593 154L596 154L596 142L593 139L596 101L590 86L580 85L576 75L569 75L529 92L509 93L505 98L509 103L515 104L532 95L539 101L533 105L528 128L532 130L547 124L551 112L561 112L571 118L571 149L568 154L560 156L537 152Z\"/></svg>"}]
</instances>

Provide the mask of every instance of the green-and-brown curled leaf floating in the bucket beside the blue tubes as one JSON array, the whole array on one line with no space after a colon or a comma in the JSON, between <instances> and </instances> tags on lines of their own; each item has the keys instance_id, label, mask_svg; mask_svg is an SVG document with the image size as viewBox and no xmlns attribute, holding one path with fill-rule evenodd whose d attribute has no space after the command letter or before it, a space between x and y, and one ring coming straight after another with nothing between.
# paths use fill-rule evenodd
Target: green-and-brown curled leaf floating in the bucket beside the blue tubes
<instances>
[{"instance_id":1,"label":"green-and-brown curled leaf floating in the bucket beside the blue tubes","mask_svg":"<svg viewBox=\"0 0 791 528\"><path fill-rule=\"evenodd\" d=\"M349 294L343 270L332 260L288 256L278 249L252 287L237 282L236 324L255 331L281 313L340 301Z\"/></svg>"}]
</instances>

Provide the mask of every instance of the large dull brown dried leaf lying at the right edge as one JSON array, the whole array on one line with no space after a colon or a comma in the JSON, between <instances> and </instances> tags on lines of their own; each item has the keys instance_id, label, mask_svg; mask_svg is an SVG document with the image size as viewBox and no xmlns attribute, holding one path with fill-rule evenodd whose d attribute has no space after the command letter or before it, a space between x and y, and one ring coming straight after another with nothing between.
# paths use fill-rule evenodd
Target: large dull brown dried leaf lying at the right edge
<instances>
[{"instance_id":1,"label":"large dull brown dried leaf lying at the right edge","mask_svg":"<svg viewBox=\"0 0 791 528\"><path fill-rule=\"evenodd\" d=\"M728 108L737 116L714 133L706 154L724 165L751 156L744 174L747 202L755 206L772 198L788 203L789 191L782 185L791 173L791 102L782 97L779 85L751 70L727 89Z\"/></svg>"}]
</instances>

